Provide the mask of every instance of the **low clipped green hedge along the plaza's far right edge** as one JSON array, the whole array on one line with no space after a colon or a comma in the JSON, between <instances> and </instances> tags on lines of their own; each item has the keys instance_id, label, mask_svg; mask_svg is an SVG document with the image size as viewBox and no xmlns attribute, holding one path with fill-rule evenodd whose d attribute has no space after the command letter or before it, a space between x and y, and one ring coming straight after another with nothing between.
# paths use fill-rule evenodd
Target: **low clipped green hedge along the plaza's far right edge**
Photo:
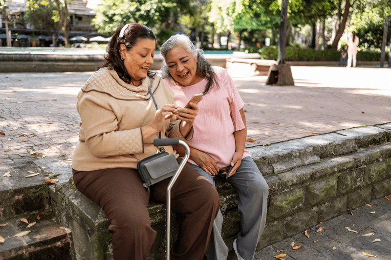
<instances>
[{"instance_id":1,"label":"low clipped green hedge along the plaza's far right edge","mask_svg":"<svg viewBox=\"0 0 391 260\"><path fill-rule=\"evenodd\" d=\"M278 47L268 46L262 48L248 48L248 53L259 53L263 60L277 60ZM359 51L357 60L359 61L380 61L381 52L376 51ZM292 48L287 47L285 50L285 60L287 61L339 61L341 53L336 50L314 50L311 48ZM386 55L386 61L388 55Z\"/></svg>"}]
</instances>

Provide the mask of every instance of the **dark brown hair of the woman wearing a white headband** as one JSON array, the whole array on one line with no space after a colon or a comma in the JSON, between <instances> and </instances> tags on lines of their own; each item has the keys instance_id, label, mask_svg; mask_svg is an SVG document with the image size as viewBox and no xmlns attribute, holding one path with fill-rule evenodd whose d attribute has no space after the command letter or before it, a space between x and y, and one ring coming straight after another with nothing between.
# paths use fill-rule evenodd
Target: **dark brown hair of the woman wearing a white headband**
<instances>
[{"instance_id":1,"label":"dark brown hair of the woman wearing a white headband","mask_svg":"<svg viewBox=\"0 0 391 260\"><path fill-rule=\"evenodd\" d=\"M125 25L119 27L109 42L105 54L105 63L102 66L99 66L97 69L107 67L110 70L115 70L118 76L124 80L126 83L131 84L132 78L130 77L128 70L126 69L123 60L121 60L121 44L124 44L129 51L133 48L139 40L154 40L156 41L156 36L153 34L151 28L145 26L144 24L132 22L129 23L128 27L124 31L124 36L119 38L121 29ZM148 77L153 77L156 72L148 71Z\"/></svg>"}]
</instances>

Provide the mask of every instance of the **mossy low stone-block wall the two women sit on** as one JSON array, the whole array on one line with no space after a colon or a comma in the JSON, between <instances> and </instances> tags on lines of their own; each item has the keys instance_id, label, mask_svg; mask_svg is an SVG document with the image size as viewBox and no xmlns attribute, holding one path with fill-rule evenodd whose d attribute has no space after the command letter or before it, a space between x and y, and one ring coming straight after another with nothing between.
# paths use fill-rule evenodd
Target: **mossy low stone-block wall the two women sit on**
<instances>
[{"instance_id":1,"label":"mossy low stone-block wall the two women sit on","mask_svg":"<svg viewBox=\"0 0 391 260\"><path fill-rule=\"evenodd\" d=\"M258 249L390 194L390 138L391 124L386 124L249 148L269 185L266 227ZM217 190L224 215L222 235L231 250L240 229L237 195L228 183L217 183ZM112 259L109 223L99 206L72 181L51 186L49 192L58 219L72 231L73 259ZM164 259L165 207L152 202L149 212L158 235L148 259ZM173 213L172 240L180 221Z\"/></svg>"}]
</instances>

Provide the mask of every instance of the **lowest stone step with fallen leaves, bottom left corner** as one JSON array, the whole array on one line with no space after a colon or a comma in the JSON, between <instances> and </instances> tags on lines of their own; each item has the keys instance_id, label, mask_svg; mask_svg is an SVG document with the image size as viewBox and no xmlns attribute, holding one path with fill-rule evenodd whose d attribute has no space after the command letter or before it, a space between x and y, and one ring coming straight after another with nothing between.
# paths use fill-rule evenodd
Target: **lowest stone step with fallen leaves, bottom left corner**
<instances>
[{"instance_id":1,"label":"lowest stone step with fallen leaves, bottom left corner","mask_svg":"<svg viewBox=\"0 0 391 260\"><path fill-rule=\"evenodd\" d=\"M70 230L57 223L55 218L36 219L37 215L27 217L29 222L36 222L27 228L27 223L20 218L1 220L0 260L70 260ZM26 235L14 237L21 232L31 231Z\"/></svg>"}]
</instances>

